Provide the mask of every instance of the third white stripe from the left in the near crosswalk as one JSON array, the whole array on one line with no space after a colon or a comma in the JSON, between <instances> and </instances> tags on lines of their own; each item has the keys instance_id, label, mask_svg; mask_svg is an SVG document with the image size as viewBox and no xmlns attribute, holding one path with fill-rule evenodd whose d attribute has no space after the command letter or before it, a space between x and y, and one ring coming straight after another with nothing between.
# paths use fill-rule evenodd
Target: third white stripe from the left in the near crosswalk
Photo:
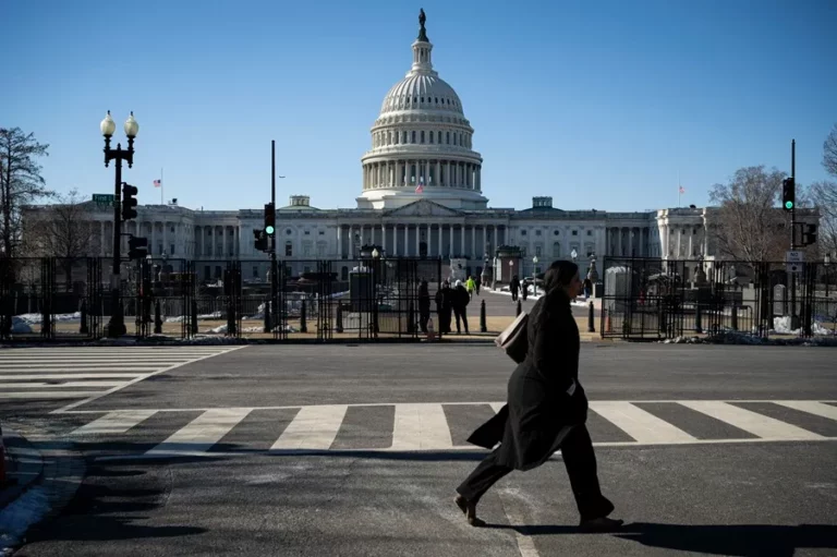
<instances>
[{"instance_id":1,"label":"third white stripe from the left in the near crosswalk","mask_svg":"<svg viewBox=\"0 0 837 557\"><path fill-rule=\"evenodd\" d=\"M345 404L302 407L270 450L329 449L348 408Z\"/></svg>"}]
</instances>

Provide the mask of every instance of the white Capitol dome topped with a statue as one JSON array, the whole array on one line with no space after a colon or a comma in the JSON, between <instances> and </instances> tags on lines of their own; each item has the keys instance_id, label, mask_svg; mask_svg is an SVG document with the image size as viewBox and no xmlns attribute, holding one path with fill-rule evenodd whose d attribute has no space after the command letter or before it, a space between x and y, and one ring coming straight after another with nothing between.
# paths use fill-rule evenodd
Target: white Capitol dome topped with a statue
<instances>
[{"instance_id":1,"label":"white Capitol dome topped with a statue","mask_svg":"<svg viewBox=\"0 0 837 557\"><path fill-rule=\"evenodd\" d=\"M359 208L395 208L418 199L456 209L487 206L483 158L472 150L474 130L457 92L433 69L424 22L422 11L412 68L384 97L372 126Z\"/></svg>"}]
</instances>

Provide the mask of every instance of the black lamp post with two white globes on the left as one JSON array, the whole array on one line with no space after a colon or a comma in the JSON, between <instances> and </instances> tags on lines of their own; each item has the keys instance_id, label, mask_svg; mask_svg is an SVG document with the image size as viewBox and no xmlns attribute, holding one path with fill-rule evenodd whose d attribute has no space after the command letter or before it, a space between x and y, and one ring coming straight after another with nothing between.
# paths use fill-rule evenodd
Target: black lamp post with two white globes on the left
<instances>
[{"instance_id":1,"label":"black lamp post with two white globes on the left","mask_svg":"<svg viewBox=\"0 0 837 557\"><path fill-rule=\"evenodd\" d=\"M119 187L122 184L122 161L124 160L128 162L128 168L131 168L134 165L134 138L140 132L140 124L136 123L136 120L134 120L134 113L131 112L131 116L128 120L125 120L124 125L125 135L128 136L128 149L123 149L121 143L117 144L116 149L110 147L110 138L113 136L113 132L117 131L117 124L110 117L110 110L108 110L108 116L106 116L99 124L99 130L101 130L101 135L105 136L105 168L110 165L111 160L117 161L117 175L113 185L113 269L110 277L111 308L110 322L108 323L107 329L108 337L117 338L124 335L126 331L125 319L122 314L122 300L120 296L120 265L122 258L122 254L120 253L122 246L122 196Z\"/></svg>"}]
</instances>

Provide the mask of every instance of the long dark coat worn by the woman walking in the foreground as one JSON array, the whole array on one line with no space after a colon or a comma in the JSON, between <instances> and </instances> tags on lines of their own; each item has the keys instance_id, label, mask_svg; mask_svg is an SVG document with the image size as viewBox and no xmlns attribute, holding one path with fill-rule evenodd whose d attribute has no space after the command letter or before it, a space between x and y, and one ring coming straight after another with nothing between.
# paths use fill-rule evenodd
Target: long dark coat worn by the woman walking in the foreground
<instances>
[{"instance_id":1,"label":"long dark coat worn by the woman walking in the foreground","mask_svg":"<svg viewBox=\"0 0 837 557\"><path fill-rule=\"evenodd\" d=\"M587 416L587 398L578 383L579 327L562 290L535 303L526 335L529 353L509 378L508 403L468 439L487 449L501 441L498 463L515 470L543 464L559 448L567 426ZM567 390L573 382L571 396Z\"/></svg>"}]
</instances>

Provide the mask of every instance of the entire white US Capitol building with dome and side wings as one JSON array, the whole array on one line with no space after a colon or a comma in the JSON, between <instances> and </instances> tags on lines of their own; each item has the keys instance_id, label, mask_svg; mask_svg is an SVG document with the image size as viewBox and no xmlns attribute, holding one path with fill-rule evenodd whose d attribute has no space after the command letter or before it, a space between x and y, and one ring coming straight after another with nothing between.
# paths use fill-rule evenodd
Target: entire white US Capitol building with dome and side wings
<instances>
[{"instance_id":1,"label":"entire white US Capitol building with dome and side wings","mask_svg":"<svg viewBox=\"0 0 837 557\"><path fill-rule=\"evenodd\" d=\"M410 71L384 97L372 125L357 207L320 209L306 195L277 207L277 257L292 273L316 269L314 259L332 259L333 270L345 274L351 262L338 259L351 259L371 244L388 256L461 258L475 274L486 245L520 247L525 275L533 256L543 268L573 250L582 268L594 254L713 259L706 234L712 208L562 210L546 195L522 210L489 207L474 128L453 87L434 70L424 12L420 24ZM141 205L137 213L123 231L147 238L155 258L196 261L204 280L219 277L225 261L239 258L245 279L265 278L266 255L256 252L253 235L264 228L260 208L192 210L169 204ZM112 217L104 207L92 214L99 255L111 253Z\"/></svg>"}]
</instances>

